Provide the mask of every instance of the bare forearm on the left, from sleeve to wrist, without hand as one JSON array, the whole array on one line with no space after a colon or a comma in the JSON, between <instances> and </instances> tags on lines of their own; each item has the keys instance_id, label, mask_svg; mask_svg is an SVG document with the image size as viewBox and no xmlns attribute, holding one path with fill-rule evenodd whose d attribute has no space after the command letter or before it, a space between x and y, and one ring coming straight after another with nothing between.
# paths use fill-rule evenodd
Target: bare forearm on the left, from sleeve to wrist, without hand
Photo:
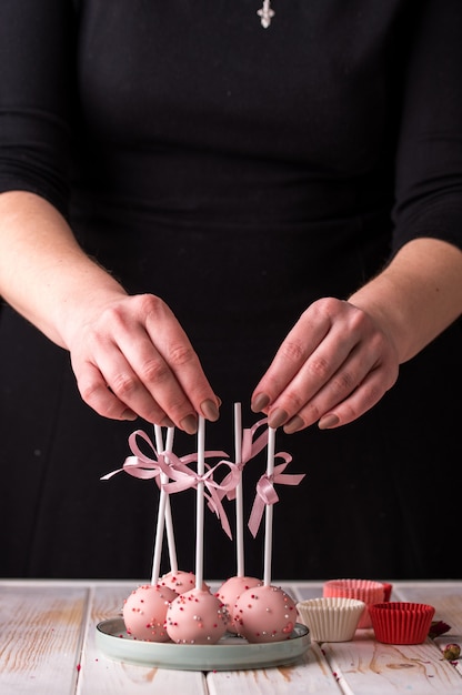
<instances>
[{"instance_id":1,"label":"bare forearm on the left, from sleeve to wrist, without hand","mask_svg":"<svg viewBox=\"0 0 462 695\"><path fill-rule=\"evenodd\" d=\"M69 348L68 321L98 294L123 295L89 259L68 223L46 200L22 191L0 195L0 295L50 340Z\"/></svg>"}]
</instances>

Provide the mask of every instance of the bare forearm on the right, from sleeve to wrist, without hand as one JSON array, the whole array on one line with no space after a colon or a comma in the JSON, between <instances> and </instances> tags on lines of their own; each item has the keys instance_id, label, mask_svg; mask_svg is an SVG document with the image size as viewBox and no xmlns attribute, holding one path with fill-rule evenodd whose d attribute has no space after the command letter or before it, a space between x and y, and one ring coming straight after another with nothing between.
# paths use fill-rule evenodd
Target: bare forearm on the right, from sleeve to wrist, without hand
<instances>
[{"instance_id":1,"label":"bare forearm on the right, from sleeve to wrist, without hand","mask_svg":"<svg viewBox=\"0 0 462 695\"><path fill-rule=\"evenodd\" d=\"M415 239L390 265L352 294L388 333L406 362L462 312L462 252L438 239Z\"/></svg>"}]
</instances>

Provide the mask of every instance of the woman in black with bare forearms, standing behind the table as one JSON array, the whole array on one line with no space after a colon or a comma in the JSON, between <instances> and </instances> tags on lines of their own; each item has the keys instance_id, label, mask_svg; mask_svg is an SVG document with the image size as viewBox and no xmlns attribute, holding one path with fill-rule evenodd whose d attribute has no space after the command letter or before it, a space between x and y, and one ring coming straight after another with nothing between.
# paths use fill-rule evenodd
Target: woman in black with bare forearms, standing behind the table
<instances>
[{"instance_id":1,"label":"woman in black with bare forearms, standing behind the table","mask_svg":"<svg viewBox=\"0 0 462 695\"><path fill-rule=\"evenodd\" d=\"M99 479L199 412L232 454L234 401L307 473L274 577L456 576L462 8L259 8L2 0L2 576L148 576L155 488Z\"/></svg>"}]
</instances>

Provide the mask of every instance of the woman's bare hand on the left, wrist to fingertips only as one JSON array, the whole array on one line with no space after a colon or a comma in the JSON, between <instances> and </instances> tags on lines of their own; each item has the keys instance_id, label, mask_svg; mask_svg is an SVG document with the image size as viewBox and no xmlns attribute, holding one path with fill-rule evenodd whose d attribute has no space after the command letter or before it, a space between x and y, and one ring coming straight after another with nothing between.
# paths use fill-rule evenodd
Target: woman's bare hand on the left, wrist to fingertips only
<instances>
[{"instance_id":1,"label":"woman's bare hand on the left, wrist to fingertips only","mask_svg":"<svg viewBox=\"0 0 462 695\"><path fill-rule=\"evenodd\" d=\"M198 413L218 419L220 401L187 334L160 298L128 296L121 290L103 303L90 299L82 319L69 324L67 346L80 394L100 415L139 415L189 434L197 431Z\"/></svg>"}]
</instances>

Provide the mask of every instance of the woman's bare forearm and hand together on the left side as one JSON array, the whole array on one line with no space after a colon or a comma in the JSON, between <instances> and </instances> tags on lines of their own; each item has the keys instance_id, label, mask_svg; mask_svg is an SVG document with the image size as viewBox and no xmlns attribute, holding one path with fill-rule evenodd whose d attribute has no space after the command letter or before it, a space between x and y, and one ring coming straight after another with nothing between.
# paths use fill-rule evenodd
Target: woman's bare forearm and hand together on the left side
<instances>
[{"instance_id":1,"label":"woman's bare forearm and hand together on the left side","mask_svg":"<svg viewBox=\"0 0 462 695\"><path fill-rule=\"evenodd\" d=\"M190 434L199 413L218 419L220 401L167 304L129 296L34 193L0 195L0 293L69 350L81 396L100 415L139 415Z\"/></svg>"}]
</instances>

